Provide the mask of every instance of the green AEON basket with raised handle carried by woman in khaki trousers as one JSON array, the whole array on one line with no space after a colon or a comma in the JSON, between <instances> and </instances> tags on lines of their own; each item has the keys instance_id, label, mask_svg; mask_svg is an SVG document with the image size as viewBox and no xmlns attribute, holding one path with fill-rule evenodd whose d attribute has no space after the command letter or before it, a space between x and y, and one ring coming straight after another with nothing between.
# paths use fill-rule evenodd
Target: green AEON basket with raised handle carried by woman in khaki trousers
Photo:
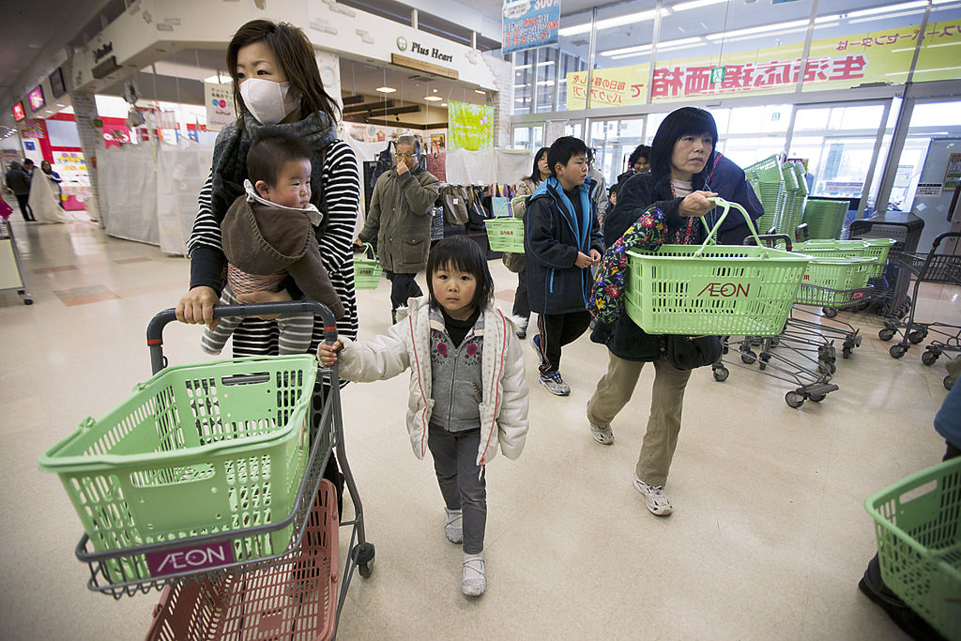
<instances>
[{"instance_id":1,"label":"green AEON basket with raised handle carried by woman in khaki trousers","mask_svg":"<svg viewBox=\"0 0 961 641\"><path fill-rule=\"evenodd\" d=\"M811 257L761 246L741 206L713 200L724 212L701 246L628 251L628 316L647 333L774 336ZM731 207L744 215L757 246L712 244Z\"/></svg>"}]
</instances>

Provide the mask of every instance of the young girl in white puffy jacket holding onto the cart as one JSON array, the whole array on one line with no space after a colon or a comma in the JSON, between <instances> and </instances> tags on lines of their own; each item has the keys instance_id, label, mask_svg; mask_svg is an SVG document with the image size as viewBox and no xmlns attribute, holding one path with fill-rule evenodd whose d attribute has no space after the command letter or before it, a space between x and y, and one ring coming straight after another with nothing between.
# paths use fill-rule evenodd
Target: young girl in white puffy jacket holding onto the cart
<instances>
[{"instance_id":1,"label":"young girl in white puffy jacket holding onto the cart","mask_svg":"<svg viewBox=\"0 0 961 641\"><path fill-rule=\"evenodd\" d=\"M487 586L485 465L499 448L507 458L520 456L528 431L524 357L517 328L494 307L494 283L477 243L445 238L427 268L430 294L410 299L407 317L387 335L321 343L317 356L325 366L339 362L348 381L382 381L410 368L410 444L418 458L431 450L447 508L445 533L463 545L461 591L476 597Z\"/></svg>"}]
</instances>

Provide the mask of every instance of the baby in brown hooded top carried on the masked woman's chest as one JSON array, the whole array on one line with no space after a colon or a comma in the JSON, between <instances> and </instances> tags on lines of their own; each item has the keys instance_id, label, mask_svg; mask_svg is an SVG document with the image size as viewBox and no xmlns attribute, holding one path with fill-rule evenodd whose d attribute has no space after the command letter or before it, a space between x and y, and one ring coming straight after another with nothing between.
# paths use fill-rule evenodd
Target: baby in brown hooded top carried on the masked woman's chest
<instances>
[{"instance_id":1,"label":"baby in brown hooded top carried on the masked woman's chest","mask_svg":"<svg viewBox=\"0 0 961 641\"><path fill-rule=\"evenodd\" d=\"M234 201L221 224L229 264L220 305L237 305L239 297L259 291L281 291L290 278L308 300L323 303L340 318L344 308L317 246L316 230L324 218L310 204L308 151L293 136L265 127L247 154L247 173L247 193ZM204 331L203 350L220 354L242 320L214 321ZM308 351L312 313L282 314L277 325L280 354Z\"/></svg>"}]
</instances>

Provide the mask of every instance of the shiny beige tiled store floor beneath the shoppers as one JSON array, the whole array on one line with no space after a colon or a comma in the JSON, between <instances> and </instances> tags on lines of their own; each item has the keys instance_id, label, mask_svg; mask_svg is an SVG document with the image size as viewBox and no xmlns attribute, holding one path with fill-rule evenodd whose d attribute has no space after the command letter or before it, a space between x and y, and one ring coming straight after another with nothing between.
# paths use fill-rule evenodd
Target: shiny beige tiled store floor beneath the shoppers
<instances>
[{"instance_id":1,"label":"shiny beige tiled store floor beneath the shoppers","mask_svg":"<svg viewBox=\"0 0 961 641\"><path fill-rule=\"evenodd\" d=\"M13 227L35 304L0 294L0 637L142 638L157 594L86 590L79 521L37 456L148 378L144 329L185 290L188 264L93 223ZM514 276L499 261L491 269L509 300ZM358 298L362 336L385 331L386 284ZM925 287L919 314L961 321L961 289ZM350 385L345 441L377 561L351 583L340 638L903 638L856 589L875 546L862 503L940 460L931 420L945 369L925 367L918 348L889 357L875 316L840 318L864 342L839 361L840 390L821 404L787 407L790 385L744 369L723 383L694 374L668 519L630 483L650 371L603 447L584 405L604 349L586 336L565 349L569 398L548 394L530 365L524 455L488 471L489 588L476 601L459 594L461 555L443 534L431 463L410 452L406 377ZM196 327L165 337L170 362L206 358Z\"/></svg>"}]
</instances>

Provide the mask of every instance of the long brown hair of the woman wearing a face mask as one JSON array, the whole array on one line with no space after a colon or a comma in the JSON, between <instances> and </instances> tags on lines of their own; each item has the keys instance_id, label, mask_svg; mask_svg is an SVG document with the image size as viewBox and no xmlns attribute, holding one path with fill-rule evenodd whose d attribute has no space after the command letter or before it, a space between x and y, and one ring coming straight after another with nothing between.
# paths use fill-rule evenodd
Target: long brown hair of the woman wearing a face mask
<instances>
[{"instance_id":1,"label":"long brown hair of the woman wearing a face mask","mask_svg":"<svg viewBox=\"0 0 961 641\"><path fill-rule=\"evenodd\" d=\"M277 57L277 62L283 69L290 88L300 95L301 117L310 113L323 111L336 120L337 103L324 90L324 83L320 79L317 60L314 58L313 46L304 32L289 22L271 22L270 20L251 20L237 29L231 43L227 45L227 68L234 79L234 107L237 112L236 126L243 129L243 114L247 106L240 97L240 83L237 78L237 52L248 44L265 42Z\"/></svg>"}]
</instances>

